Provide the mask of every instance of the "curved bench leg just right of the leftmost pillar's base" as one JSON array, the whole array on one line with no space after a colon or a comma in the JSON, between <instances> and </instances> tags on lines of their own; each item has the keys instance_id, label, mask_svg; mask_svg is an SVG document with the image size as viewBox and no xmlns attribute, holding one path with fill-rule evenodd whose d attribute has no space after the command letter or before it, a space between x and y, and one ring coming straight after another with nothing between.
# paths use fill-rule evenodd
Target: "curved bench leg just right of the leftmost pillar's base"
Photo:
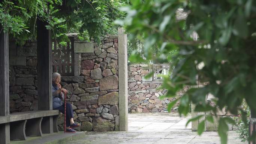
<instances>
[{"instance_id":1,"label":"curved bench leg just right of the leftmost pillar's base","mask_svg":"<svg viewBox=\"0 0 256 144\"><path fill-rule=\"evenodd\" d=\"M10 123L10 140L27 140L25 126L27 120Z\"/></svg>"}]
</instances>

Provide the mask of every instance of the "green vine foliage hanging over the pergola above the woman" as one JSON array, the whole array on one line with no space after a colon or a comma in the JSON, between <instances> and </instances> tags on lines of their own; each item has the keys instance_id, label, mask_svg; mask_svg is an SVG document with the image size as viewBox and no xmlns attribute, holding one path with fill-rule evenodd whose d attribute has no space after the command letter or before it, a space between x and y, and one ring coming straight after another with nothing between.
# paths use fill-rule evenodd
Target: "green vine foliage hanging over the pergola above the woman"
<instances>
[{"instance_id":1,"label":"green vine foliage hanging over the pergola above the woman","mask_svg":"<svg viewBox=\"0 0 256 144\"><path fill-rule=\"evenodd\" d=\"M129 0L2 0L0 2L0 24L10 38L24 44L36 38L36 20L47 21L47 29L53 37L68 41L65 33L79 33L84 40L116 34L114 19L122 19L124 12L118 8Z\"/></svg>"}]
</instances>

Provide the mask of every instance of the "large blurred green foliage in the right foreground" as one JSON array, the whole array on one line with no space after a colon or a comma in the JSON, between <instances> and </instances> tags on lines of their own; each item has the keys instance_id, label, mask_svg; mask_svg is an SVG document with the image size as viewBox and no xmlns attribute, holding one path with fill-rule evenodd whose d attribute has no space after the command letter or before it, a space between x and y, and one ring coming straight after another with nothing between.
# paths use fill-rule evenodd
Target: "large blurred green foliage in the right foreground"
<instances>
[{"instance_id":1,"label":"large blurred green foliage in the right foreground","mask_svg":"<svg viewBox=\"0 0 256 144\"><path fill-rule=\"evenodd\" d=\"M188 17L176 20L176 11L181 7ZM131 5L121 10L127 16L116 23L123 25L131 37L143 38L144 43L143 57L134 53L130 60L173 61L172 76L166 76L162 85L168 90L167 97L191 86L179 99L180 114L186 116L192 102L198 112L216 114L218 108L226 108L238 115L241 111L244 123L247 122L246 111L240 105L245 99L256 110L256 1L131 0ZM194 31L199 36L197 41L191 37ZM158 55L150 50L154 46L159 48ZM177 53L170 55L175 50ZM203 66L198 69L199 64ZM204 83L207 85L198 86ZM216 105L206 101L207 94L215 97ZM213 116L207 115L206 120L213 122ZM221 117L218 123L221 143L226 144L228 123L235 122L230 117ZM198 134L203 130L200 123Z\"/></svg>"}]
</instances>

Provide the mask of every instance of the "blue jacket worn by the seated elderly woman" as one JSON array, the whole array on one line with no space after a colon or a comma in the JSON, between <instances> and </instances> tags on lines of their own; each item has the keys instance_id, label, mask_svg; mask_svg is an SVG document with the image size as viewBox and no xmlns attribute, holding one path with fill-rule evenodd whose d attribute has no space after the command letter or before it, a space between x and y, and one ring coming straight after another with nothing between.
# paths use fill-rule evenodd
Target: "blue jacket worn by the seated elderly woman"
<instances>
[{"instance_id":1,"label":"blue jacket worn by the seated elderly woman","mask_svg":"<svg viewBox=\"0 0 256 144\"><path fill-rule=\"evenodd\" d=\"M52 84L52 108L53 109L60 107L61 105L64 104L64 102L62 101L62 99L64 98L63 93L61 93L62 95L60 96L60 94L57 93L58 89L59 88L57 86L54 86L54 84Z\"/></svg>"}]
</instances>

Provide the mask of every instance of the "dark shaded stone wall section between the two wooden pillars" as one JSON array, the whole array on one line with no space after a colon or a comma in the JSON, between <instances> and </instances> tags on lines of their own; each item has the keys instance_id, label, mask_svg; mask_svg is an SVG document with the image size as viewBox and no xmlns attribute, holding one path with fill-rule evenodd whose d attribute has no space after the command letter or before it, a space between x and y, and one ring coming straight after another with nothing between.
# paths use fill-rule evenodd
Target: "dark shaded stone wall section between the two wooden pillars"
<instances>
[{"instance_id":1,"label":"dark shaded stone wall section between the two wooden pillars","mask_svg":"<svg viewBox=\"0 0 256 144\"><path fill-rule=\"evenodd\" d=\"M36 42L9 43L10 113L37 110Z\"/></svg>"}]
</instances>

